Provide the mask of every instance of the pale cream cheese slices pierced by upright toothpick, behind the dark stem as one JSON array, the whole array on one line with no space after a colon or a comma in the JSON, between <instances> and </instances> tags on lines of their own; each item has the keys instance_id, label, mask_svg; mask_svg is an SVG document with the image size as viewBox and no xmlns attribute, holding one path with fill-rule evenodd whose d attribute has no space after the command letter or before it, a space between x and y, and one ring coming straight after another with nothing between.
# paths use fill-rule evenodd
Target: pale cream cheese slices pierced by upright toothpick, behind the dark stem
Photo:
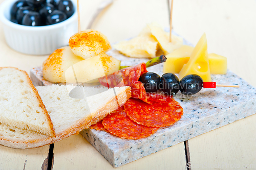
<instances>
[{"instance_id":1,"label":"pale cream cheese slices pierced by upright toothpick, behind the dark stem","mask_svg":"<svg viewBox=\"0 0 256 170\"><path fill-rule=\"evenodd\" d=\"M164 55L172 53L183 44L181 37L172 36L169 41L169 33L165 32L157 23L148 24L135 38L121 41L114 48L128 57L154 58L160 51Z\"/></svg>"}]
</instances>

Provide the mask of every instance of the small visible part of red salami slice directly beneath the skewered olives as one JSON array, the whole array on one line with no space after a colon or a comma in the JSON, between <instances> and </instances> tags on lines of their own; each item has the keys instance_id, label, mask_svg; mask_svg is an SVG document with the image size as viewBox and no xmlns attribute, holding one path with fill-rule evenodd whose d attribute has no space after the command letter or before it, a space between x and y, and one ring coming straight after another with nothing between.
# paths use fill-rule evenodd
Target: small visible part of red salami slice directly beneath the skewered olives
<instances>
[{"instance_id":1,"label":"small visible part of red salami slice directly beneath the skewered olives","mask_svg":"<svg viewBox=\"0 0 256 170\"><path fill-rule=\"evenodd\" d=\"M172 95L164 95L163 93L151 92L151 93L146 93L146 95L147 95L147 100L152 102L172 103L175 101Z\"/></svg>"}]
</instances>

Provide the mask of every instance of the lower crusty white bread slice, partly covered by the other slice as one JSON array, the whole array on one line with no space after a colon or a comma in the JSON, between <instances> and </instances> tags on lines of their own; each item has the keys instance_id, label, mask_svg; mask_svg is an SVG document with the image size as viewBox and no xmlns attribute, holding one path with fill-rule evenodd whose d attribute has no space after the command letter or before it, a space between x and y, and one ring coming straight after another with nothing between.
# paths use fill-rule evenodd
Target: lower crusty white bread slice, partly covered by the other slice
<instances>
[{"instance_id":1,"label":"lower crusty white bread slice, partly covered by the other slice","mask_svg":"<svg viewBox=\"0 0 256 170\"><path fill-rule=\"evenodd\" d=\"M82 96L83 93L87 97L74 99L69 96L70 90L74 87L71 85L36 87L52 119L56 137L11 128L0 123L0 144L26 149L57 142L96 124L131 98L131 87L114 89L80 87L73 96Z\"/></svg>"}]
</instances>

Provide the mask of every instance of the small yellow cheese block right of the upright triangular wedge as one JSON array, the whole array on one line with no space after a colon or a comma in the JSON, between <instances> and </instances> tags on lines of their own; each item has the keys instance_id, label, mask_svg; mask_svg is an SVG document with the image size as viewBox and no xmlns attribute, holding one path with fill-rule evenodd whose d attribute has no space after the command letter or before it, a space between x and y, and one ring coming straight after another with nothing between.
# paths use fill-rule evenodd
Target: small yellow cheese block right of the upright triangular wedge
<instances>
[{"instance_id":1,"label":"small yellow cheese block right of the upright triangular wedge","mask_svg":"<svg viewBox=\"0 0 256 170\"><path fill-rule=\"evenodd\" d=\"M227 58L221 55L208 54L210 64L210 74L224 75L227 73Z\"/></svg>"}]
</instances>

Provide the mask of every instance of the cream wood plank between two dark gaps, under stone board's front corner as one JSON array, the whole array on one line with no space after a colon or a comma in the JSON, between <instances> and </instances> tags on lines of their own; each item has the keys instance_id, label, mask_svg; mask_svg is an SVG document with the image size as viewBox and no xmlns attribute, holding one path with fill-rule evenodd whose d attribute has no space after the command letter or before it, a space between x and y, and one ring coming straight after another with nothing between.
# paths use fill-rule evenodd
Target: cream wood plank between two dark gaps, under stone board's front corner
<instances>
[{"instance_id":1,"label":"cream wood plank between two dark gaps, under stone board's front corner","mask_svg":"<svg viewBox=\"0 0 256 170\"><path fill-rule=\"evenodd\" d=\"M186 169L183 142L119 168L112 167L80 134L55 143L53 153L53 169Z\"/></svg>"}]
</instances>

